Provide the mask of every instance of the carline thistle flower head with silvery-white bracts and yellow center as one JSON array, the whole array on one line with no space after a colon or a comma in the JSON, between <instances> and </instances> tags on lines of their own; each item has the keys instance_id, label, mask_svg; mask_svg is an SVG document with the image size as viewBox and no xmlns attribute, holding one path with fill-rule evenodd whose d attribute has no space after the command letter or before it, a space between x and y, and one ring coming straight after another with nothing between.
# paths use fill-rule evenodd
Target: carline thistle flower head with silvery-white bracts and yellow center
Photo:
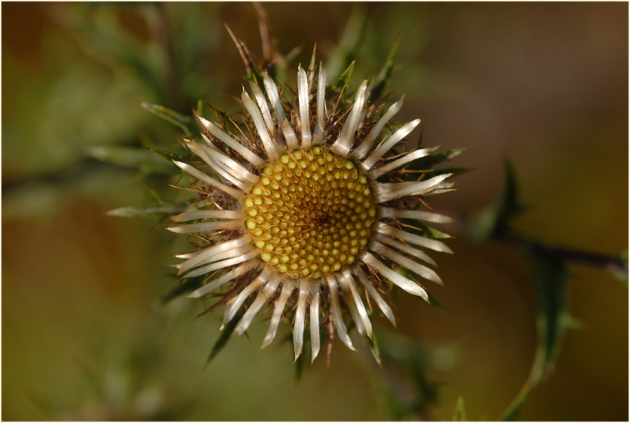
<instances>
[{"instance_id":1,"label":"carline thistle flower head with silvery-white bracts and yellow center","mask_svg":"<svg viewBox=\"0 0 630 423\"><path fill-rule=\"evenodd\" d=\"M208 170L175 164L201 183L196 188L201 199L172 216L186 224L169 230L196 233L202 240L201 247L177 256L186 261L176 268L185 278L207 275L206 284L189 297L218 290L222 298L216 305L227 305L222 329L239 319L233 328L242 334L267 310L265 347L284 315L293 323L297 360L308 321L314 361L322 328L330 357L335 331L355 349L347 318L362 337L372 338L369 314L376 305L395 325L386 300L393 286L429 300L423 286L405 275L441 284L421 263L435 265L424 251L452 251L403 219L449 223L447 216L416 206L426 206L424 197L450 190L453 183L446 181L451 174L405 172L436 148L393 153L420 123L388 130L402 99L384 110L382 99L368 101L372 85L363 81L352 101L344 89L327 85L322 66L316 69L311 61L307 70L297 67L295 90L285 85L279 90L266 72L259 74L262 81L253 78L251 94L245 89L241 94L247 116L240 126L232 121L233 132L197 116L204 142L186 144Z\"/></svg>"}]
</instances>

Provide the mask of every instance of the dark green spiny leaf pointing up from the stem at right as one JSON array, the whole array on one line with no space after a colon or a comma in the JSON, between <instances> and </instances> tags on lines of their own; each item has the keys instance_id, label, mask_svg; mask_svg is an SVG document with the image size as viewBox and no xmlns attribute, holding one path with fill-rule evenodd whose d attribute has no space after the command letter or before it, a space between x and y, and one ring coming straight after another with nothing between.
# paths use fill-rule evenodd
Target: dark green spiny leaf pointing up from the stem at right
<instances>
[{"instance_id":1,"label":"dark green spiny leaf pointing up from the stem at right","mask_svg":"<svg viewBox=\"0 0 630 423\"><path fill-rule=\"evenodd\" d=\"M466 232L475 242L484 242L500 232L524 207L518 198L517 177L512 164L505 160L505 185L496 199L466 223Z\"/></svg>"}]
</instances>

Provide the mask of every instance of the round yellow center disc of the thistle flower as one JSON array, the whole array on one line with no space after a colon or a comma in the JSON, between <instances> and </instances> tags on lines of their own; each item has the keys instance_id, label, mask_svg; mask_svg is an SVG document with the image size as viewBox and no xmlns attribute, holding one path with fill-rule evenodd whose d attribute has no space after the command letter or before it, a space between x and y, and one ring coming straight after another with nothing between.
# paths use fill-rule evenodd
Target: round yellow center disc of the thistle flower
<instances>
[{"instance_id":1,"label":"round yellow center disc of the thistle flower","mask_svg":"<svg viewBox=\"0 0 630 423\"><path fill-rule=\"evenodd\" d=\"M367 178L325 147L284 153L245 197L245 226L260 258L291 278L351 265L376 209Z\"/></svg>"}]
</instances>

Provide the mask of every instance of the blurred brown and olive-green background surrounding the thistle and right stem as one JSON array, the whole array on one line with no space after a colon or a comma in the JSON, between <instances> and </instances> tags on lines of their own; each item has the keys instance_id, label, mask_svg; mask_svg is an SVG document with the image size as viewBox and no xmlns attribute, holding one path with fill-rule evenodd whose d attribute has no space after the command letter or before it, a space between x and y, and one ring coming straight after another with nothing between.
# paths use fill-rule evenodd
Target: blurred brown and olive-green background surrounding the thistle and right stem
<instances>
[{"instance_id":1,"label":"blurred brown and olive-green background surrounding the thistle and right stem","mask_svg":"<svg viewBox=\"0 0 630 423\"><path fill-rule=\"evenodd\" d=\"M627 249L628 4L264 7L280 52L301 47L289 69L315 43L339 67L343 40L356 46L356 81L372 78L400 35L387 88L405 94L400 120L421 117L428 146L473 147L453 162L470 172L435 209L461 221L491 202L510 158L531 206L517 230ZM155 203L152 190L176 198L165 162L138 172L134 157L111 165L94 147L174 148L181 132L141 102L189 114L202 97L238 112L244 65L223 23L260 56L253 6L5 2L1 12L2 419L451 419L459 396L468 418L497 419L516 396L536 345L530 269L457 224L444 227L456 254L435 256L445 286L430 286L447 312L400 295L397 330L374 319L385 370L336 340L330 369L321 356L296 382L290 343L259 349L262 322L202 370L222 310L191 321L207 304L187 298L153 310L178 283L168 269L186 245L155 220L106 215ZM360 37L344 37L362 19ZM569 270L577 323L521 419L627 420L627 284Z\"/></svg>"}]
</instances>

